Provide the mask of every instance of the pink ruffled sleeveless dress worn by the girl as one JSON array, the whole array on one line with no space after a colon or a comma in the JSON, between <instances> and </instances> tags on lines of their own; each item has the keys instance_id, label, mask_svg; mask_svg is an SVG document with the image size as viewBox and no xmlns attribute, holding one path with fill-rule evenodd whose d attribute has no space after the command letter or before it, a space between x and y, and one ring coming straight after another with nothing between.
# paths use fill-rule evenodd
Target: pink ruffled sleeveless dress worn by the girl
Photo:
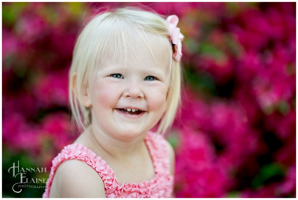
<instances>
[{"instance_id":1,"label":"pink ruffled sleeveless dress worn by the girl","mask_svg":"<svg viewBox=\"0 0 298 200\"><path fill-rule=\"evenodd\" d=\"M170 175L170 160L166 148L165 139L152 132L148 132L145 142L155 170L155 176L150 181L141 183L123 183L119 185L114 171L107 163L93 151L81 144L71 144L52 161L49 179L46 182L46 190L43 198L48 198L52 180L58 166L65 160L77 159L86 162L103 180L105 196L108 198L168 198L173 192L173 176Z\"/></svg>"}]
</instances>

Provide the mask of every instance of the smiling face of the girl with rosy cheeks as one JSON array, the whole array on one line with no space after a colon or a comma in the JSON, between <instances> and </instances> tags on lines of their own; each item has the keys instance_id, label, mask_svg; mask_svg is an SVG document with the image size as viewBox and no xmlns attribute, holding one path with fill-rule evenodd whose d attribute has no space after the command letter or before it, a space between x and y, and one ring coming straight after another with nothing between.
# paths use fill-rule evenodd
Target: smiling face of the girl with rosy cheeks
<instances>
[{"instance_id":1,"label":"smiling face of the girl with rosy cheeks","mask_svg":"<svg viewBox=\"0 0 298 200\"><path fill-rule=\"evenodd\" d=\"M169 56L155 60L145 46L135 52L137 60L97 69L84 96L93 130L122 140L146 134L166 109Z\"/></svg>"}]
</instances>

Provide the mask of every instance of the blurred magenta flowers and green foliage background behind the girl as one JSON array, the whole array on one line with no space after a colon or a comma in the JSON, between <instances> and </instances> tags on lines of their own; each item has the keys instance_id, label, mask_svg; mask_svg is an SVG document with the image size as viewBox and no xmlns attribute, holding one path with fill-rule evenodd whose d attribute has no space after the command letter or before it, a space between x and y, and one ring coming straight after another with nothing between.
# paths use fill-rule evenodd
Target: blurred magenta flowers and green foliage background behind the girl
<instances>
[{"instance_id":1,"label":"blurred magenta flowers and green foliage background behind the girl","mask_svg":"<svg viewBox=\"0 0 298 200\"><path fill-rule=\"evenodd\" d=\"M122 6L180 18L184 89L166 135L176 197L296 197L295 2L2 3L2 197L41 197L13 192L7 170L19 161L47 178L77 137L67 94L75 39L90 15Z\"/></svg>"}]
</instances>

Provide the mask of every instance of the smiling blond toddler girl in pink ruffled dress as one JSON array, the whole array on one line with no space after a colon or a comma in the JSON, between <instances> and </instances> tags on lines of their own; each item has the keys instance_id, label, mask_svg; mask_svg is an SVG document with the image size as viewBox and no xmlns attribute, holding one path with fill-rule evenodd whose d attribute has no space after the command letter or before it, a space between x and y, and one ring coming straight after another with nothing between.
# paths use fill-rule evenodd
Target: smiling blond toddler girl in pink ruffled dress
<instances>
[{"instance_id":1,"label":"smiling blond toddler girl in pink ruffled dress","mask_svg":"<svg viewBox=\"0 0 298 200\"><path fill-rule=\"evenodd\" d=\"M121 8L82 30L69 96L83 133L54 158L43 197L172 196L173 148L150 129L164 133L180 101L178 20Z\"/></svg>"}]
</instances>

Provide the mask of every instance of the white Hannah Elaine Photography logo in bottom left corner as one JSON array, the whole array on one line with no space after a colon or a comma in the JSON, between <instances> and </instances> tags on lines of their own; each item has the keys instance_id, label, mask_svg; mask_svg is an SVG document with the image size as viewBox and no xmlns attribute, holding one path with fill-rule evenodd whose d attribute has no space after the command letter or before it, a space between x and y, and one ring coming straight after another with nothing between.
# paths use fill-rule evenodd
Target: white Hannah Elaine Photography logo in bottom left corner
<instances>
[{"instance_id":1,"label":"white Hannah Elaine Photography logo in bottom left corner","mask_svg":"<svg viewBox=\"0 0 298 200\"><path fill-rule=\"evenodd\" d=\"M19 161L18 165L15 165L13 163L13 166L8 169L8 173L12 171L13 178L16 178L18 181L13 185L13 191L16 193L20 193L22 191L21 188L24 187L30 187L30 188L45 188L46 186L36 186L33 185L34 183L46 183L46 178L26 178L26 173L41 173L41 172L46 172L46 168L21 168L19 167ZM19 191L16 191L19 190Z\"/></svg>"}]
</instances>

